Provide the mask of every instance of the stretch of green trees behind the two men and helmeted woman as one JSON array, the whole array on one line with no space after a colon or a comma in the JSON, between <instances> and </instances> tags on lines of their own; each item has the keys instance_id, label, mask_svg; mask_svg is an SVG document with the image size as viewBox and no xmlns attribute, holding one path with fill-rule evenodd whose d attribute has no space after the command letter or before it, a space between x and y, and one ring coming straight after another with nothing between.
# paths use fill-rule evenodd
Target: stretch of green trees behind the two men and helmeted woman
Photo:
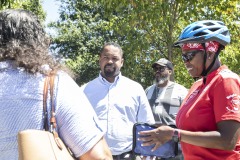
<instances>
[{"instance_id":1,"label":"stretch of green trees behind the two men and helmeted woman","mask_svg":"<svg viewBox=\"0 0 240 160\"><path fill-rule=\"evenodd\" d=\"M61 0L61 20L52 24L58 31L52 49L69 59L67 64L82 77L79 85L99 73L96 54L103 43L117 41L124 51L123 75L146 88L153 80L152 63L165 57L175 66L175 81L189 88L193 79L184 67L181 51L173 48L173 43L193 21L222 20L230 29L232 43L226 48L227 54L221 54L221 60L239 74L238 3L237 0Z\"/></svg>"}]
</instances>

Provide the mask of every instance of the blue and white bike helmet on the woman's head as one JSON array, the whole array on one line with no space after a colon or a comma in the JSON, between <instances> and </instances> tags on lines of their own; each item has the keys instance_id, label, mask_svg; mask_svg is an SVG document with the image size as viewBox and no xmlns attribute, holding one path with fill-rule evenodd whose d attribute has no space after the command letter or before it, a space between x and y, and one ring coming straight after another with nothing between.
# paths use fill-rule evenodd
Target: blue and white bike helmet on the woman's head
<instances>
[{"instance_id":1,"label":"blue and white bike helmet on the woman's head","mask_svg":"<svg viewBox=\"0 0 240 160\"><path fill-rule=\"evenodd\" d=\"M230 43L230 33L225 24L216 20L197 21L188 25L181 33L174 46L184 43L205 43L216 41L223 46Z\"/></svg>"}]
</instances>

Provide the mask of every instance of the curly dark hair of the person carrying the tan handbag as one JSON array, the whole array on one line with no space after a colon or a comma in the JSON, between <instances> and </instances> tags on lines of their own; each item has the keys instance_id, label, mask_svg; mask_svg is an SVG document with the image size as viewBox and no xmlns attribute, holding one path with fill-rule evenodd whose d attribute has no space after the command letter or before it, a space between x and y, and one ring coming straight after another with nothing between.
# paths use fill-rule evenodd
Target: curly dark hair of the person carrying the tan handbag
<instances>
[{"instance_id":1,"label":"curly dark hair of the person carrying the tan handbag","mask_svg":"<svg viewBox=\"0 0 240 160\"><path fill-rule=\"evenodd\" d=\"M14 60L29 73L48 74L64 67L49 54L50 39L38 18L29 11L7 9L0 12L0 61Z\"/></svg>"}]
</instances>

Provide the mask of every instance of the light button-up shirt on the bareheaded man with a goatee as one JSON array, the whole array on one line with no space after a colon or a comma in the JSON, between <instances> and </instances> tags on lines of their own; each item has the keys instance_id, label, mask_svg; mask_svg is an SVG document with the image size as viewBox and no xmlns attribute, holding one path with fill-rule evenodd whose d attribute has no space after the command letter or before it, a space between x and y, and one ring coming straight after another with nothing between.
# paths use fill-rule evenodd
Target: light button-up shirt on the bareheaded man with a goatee
<instances>
[{"instance_id":1,"label":"light button-up shirt on the bareheaded man with a goatee","mask_svg":"<svg viewBox=\"0 0 240 160\"><path fill-rule=\"evenodd\" d=\"M142 86L121 74L109 83L101 74L81 87L98 118L113 155L132 150L134 123L154 123Z\"/></svg>"}]
</instances>

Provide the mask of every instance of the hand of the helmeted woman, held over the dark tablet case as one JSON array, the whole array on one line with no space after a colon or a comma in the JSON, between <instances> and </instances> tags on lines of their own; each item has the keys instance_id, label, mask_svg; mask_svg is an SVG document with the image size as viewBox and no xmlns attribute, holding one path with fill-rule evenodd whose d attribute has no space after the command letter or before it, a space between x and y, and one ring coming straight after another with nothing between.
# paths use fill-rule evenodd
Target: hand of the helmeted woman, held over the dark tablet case
<instances>
[{"instance_id":1,"label":"hand of the helmeted woman, held over the dark tablet case","mask_svg":"<svg viewBox=\"0 0 240 160\"><path fill-rule=\"evenodd\" d=\"M154 145L152 152L158 147L172 139L174 128L167 125L160 125L158 128L150 131L141 131L138 140L142 141L142 146Z\"/></svg>"}]
</instances>

